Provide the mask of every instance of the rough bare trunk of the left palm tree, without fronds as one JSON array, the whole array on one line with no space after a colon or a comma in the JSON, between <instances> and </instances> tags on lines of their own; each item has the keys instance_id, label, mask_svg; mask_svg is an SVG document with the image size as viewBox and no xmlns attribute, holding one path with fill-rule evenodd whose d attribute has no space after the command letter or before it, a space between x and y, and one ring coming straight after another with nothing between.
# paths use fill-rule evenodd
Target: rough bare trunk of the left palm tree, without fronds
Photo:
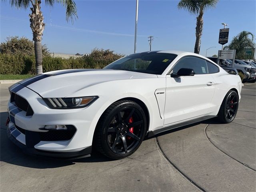
<instances>
[{"instance_id":1,"label":"rough bare trunk of the left palm tree, without fronds","mask_svg":"<svg viewBox=\"0 0 256 192\"><path fill-rule=\"evenodd\" d=\"M44 16L40 10L41 0L35 0L35 4L33 4L33 8L30 8L32 11L29 14L30 17L30 28L33 32L33 40L34 40L34 48L35 48L35 56L36 56L36 74L41 74L43 72L42 69L42 35L44 31Z\"/></svg>"}]
</instances>

